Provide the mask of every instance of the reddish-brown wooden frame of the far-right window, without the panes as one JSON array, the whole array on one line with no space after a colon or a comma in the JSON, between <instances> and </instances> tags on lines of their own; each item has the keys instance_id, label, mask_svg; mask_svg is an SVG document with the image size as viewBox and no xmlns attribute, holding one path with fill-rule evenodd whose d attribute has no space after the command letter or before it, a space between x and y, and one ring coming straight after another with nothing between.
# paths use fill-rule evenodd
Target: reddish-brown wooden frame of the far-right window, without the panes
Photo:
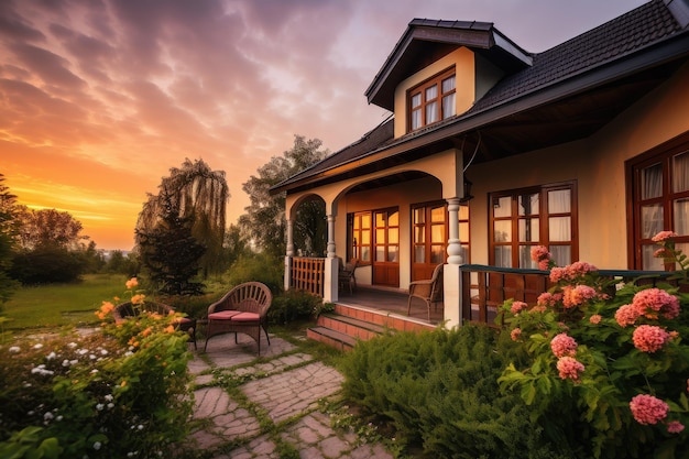
<instances>
[{"instance_id":1,"label":"reddish-brown wooden frame of the far-right window, without the panes","mask_svg":"<svg viewBox=\"0 0 689 459\"><path fill-rule=\"evenodd\" d=\"M672 192L671 159L689 151L689 133L679 135L654 149L625 162L626 212L627 212L627 267L644 270L643 245L653 244L650 238L642 238L641 208L646 204L663 205L663 230L671 230L675 223L672 201L689 198L689 192ZM655 163L663 165L663 195L657 198L642 199L641 172ZM689 243L689 236L675 238L678 243ZM658 245L659 248L659 245ZM671 267L670 267L671 269Z\"/></svg>"}]
</instances>

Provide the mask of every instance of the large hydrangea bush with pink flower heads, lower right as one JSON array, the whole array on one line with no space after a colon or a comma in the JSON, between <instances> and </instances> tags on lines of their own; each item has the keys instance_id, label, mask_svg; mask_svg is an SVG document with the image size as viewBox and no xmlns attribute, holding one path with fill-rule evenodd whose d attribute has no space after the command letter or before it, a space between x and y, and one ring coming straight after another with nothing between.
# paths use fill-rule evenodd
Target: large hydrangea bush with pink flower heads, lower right
<instances>
[{"instance_id":1,"label":"large hydrangea bush with pink flower heads, lower right","mask_svg":"<svg viewBox=\"0 0 689 459\"><path fill-rule=\"evenodd\" d=\"M686 258L657 240L686 278ZM555 286L536 305L503 306L505 335L528 359L507 365L501 386L521 394L554 442L579 445L584 457L686 458L689 297L667 283L604 278L583 262L547 267Z\"/></svg>"}]
</instances>

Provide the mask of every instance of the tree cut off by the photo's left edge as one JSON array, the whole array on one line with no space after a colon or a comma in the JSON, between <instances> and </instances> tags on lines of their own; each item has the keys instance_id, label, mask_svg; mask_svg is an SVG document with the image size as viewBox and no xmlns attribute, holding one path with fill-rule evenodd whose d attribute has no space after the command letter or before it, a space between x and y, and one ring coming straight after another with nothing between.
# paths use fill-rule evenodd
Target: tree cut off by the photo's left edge
<instances>
[{"instance_id":1,"label":"tree cut off by the photo's left edge","mask_svg":"<svg viewBox=\"0 0 689 459\"><path fill-rule=\"evenodd\" d=\"M9 275L17 236L17 196L10 193L3 182L4 175L0 174L0 305L10 299L18 286Z\"/></svg>"}]
</instances>

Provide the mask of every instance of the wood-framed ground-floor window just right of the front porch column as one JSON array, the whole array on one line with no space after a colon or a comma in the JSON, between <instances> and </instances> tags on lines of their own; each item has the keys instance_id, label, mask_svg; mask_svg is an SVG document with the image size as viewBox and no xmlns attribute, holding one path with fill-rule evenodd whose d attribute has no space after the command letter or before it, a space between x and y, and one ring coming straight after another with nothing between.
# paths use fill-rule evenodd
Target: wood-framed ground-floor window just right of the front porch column
<instances>
[{"instance_id":1,"label":"wood-framed ground-floor window just right of the front porch column","mask_svg":"<svg viewBox=\"0 0 689 459\"><path fill-rule=\"evenodd\" d=\"M493 193L490 263L502 267L531 267L531 251L545 245L558 265L579 258L576 183Z\"/></svg>"}]
</instances>

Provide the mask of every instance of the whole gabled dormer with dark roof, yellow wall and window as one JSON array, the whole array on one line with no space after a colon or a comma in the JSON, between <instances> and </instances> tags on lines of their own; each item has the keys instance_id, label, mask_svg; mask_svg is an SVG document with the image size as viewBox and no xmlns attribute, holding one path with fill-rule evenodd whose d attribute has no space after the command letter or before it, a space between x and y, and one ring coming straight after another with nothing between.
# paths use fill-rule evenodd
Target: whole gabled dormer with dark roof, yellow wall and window
<instances>
[{"instance_id":1,"label":"whole gabled dormer with dark roof, yellow wall and window","mask_svg":"<svg viewBox=\"0 0 689 459\"><path fill-rule=\"evenodd\" d=\"M394 112L400 138L466 112L505 75L531 65L492 23L414 19L365 96Z\"/></svg>"}]
</instances>

